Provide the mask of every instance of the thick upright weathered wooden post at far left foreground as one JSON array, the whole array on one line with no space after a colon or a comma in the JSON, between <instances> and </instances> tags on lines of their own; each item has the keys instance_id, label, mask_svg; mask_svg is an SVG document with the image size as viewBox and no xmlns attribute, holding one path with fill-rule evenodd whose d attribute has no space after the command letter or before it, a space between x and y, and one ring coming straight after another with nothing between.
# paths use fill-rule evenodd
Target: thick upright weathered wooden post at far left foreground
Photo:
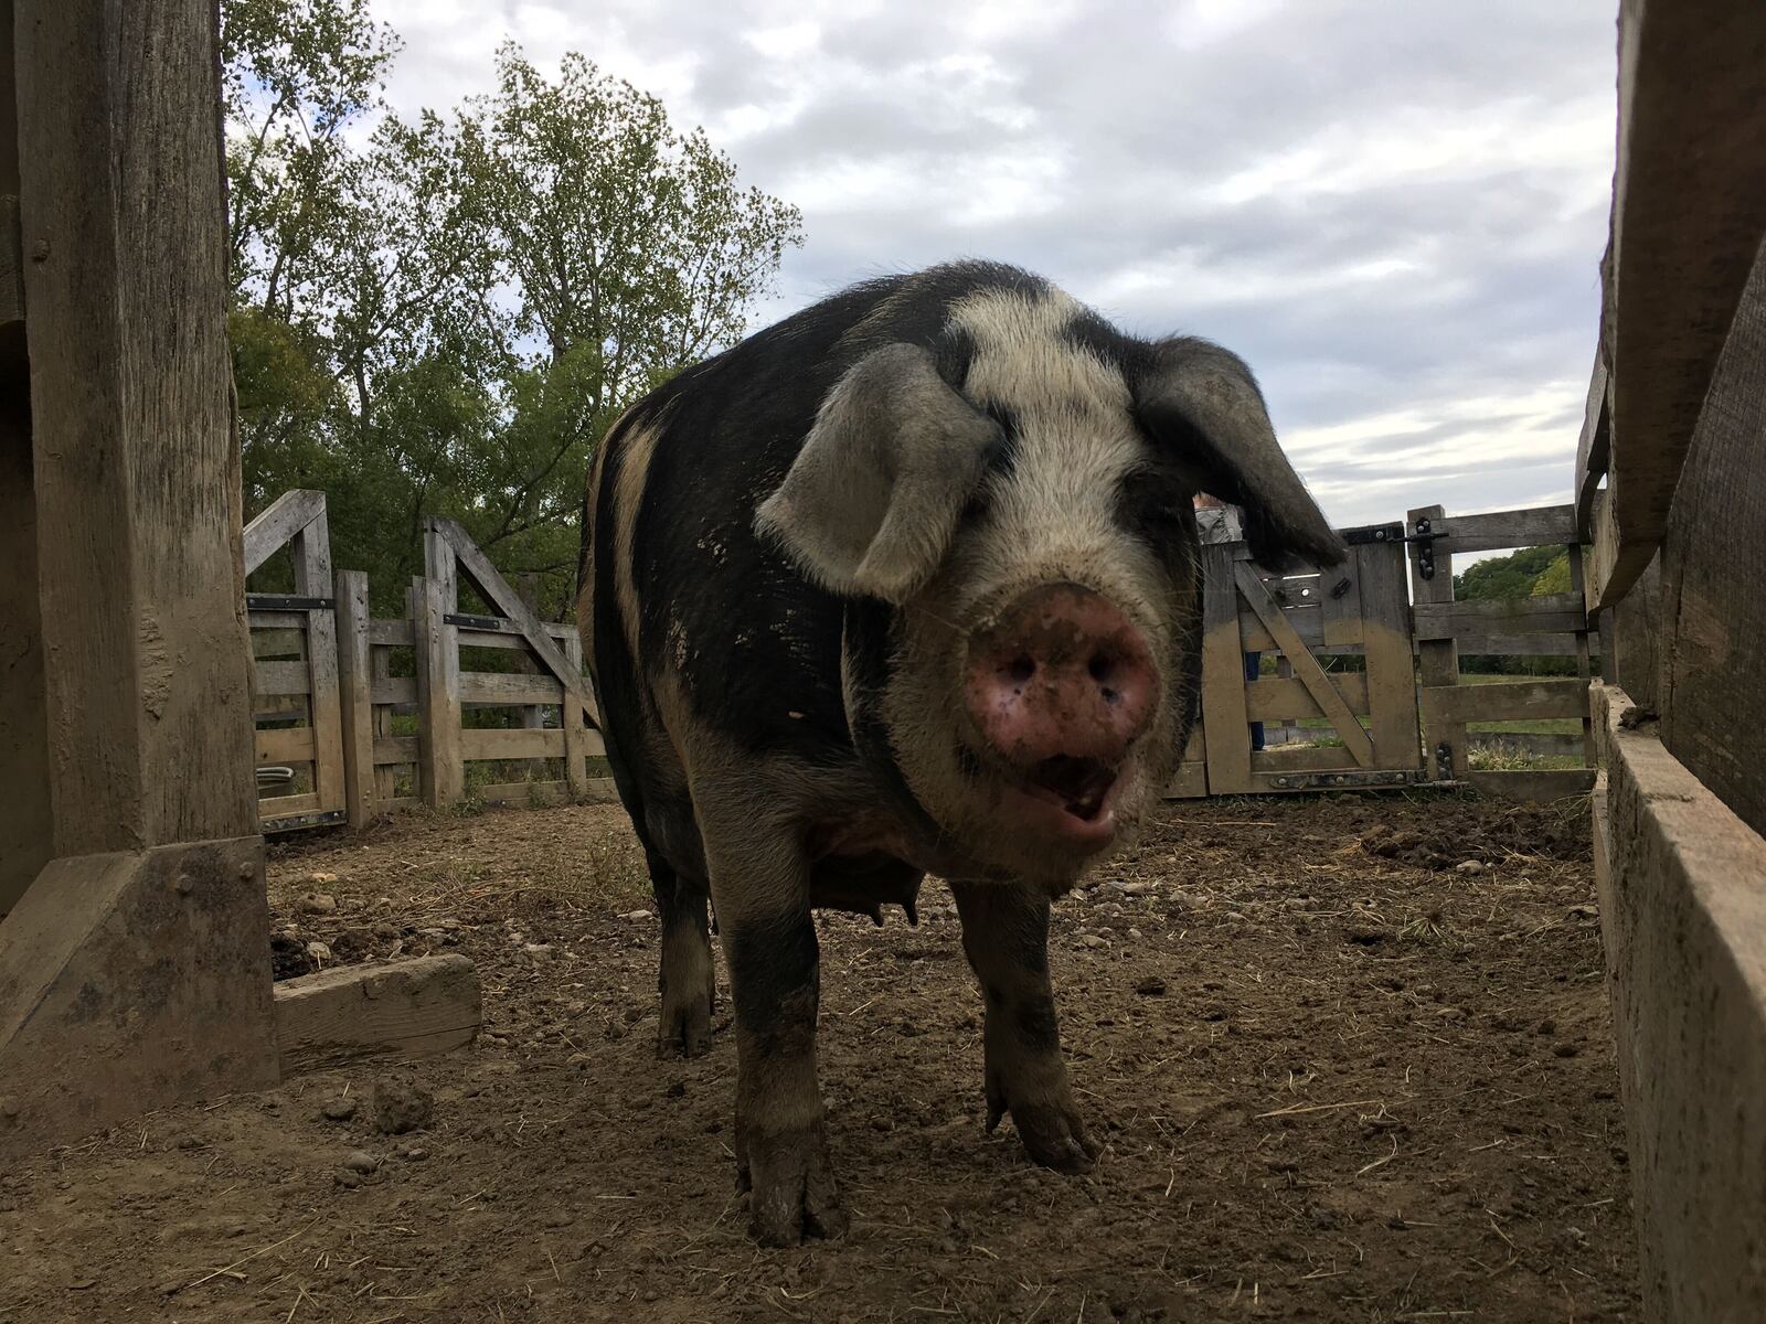
<instances>
[{"instance_id":1,"label":"thick upright weathered wooden post at far left foreground","mask_svg":"<svg viewBox=\"0 0 1766 1324\"><path fill-rule=\"evenodd\" d=\"M57 856L258 830L212 28L192 0L14 23Z\"/></svg>"}]
</instances>

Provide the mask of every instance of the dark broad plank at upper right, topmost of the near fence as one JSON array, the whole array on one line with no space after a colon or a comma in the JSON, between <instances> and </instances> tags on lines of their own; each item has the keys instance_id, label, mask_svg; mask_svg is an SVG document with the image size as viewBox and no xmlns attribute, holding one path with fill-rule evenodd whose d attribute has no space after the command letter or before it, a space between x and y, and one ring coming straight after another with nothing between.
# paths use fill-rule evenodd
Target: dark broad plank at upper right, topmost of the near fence
<instances>
[{"instance_id":1,"label":"dark broad plank at upper right, topmost of the near fence","mask_svg":"<svg viewBox=\"0 0 1766 1324\"><path fill-rule=\"evenodd\" d=\"M1762 67L1766 5L1621 7L1612 454L1602 515L1612 538L1596 556L1598 607L1630 590L1667 533L1681 464L1766 233Z\"/></svg>"}]
</instances>

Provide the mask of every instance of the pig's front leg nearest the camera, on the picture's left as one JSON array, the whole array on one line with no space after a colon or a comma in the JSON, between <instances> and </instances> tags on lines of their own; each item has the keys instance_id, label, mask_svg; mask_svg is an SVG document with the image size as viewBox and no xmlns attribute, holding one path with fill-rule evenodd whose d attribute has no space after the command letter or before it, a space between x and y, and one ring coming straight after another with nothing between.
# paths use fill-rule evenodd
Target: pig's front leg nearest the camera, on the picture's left
<instances>
[{"instance_id":1,"label":"pig's front leg nearest the camera, on the picture's left","mask_svg":"<svg viewBox=\"0 0 1766 1324\"><path fill-rule=\"evenodd\" d=\"M846 1230L816 1086L819 952L809 863L784 824L706 823L736 1020L736 1181L768 1246Z\"/></svg>"}]
</instances>

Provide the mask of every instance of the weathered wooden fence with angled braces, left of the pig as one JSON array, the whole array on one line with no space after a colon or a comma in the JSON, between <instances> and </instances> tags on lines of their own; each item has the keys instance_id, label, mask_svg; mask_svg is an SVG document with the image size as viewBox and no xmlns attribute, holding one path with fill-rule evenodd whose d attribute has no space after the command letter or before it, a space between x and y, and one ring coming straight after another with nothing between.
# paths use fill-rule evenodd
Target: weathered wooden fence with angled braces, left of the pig
<instances>
[{"instance_id":1,"label":"weathered wooden fence with angled braces, left of the pig","mask_svg":"<svg viewBox=\"0 0 1766 1324\"><path fill-rule=\"evenodd\" d=\"M611 798L576 627L540 621L459 524L429 521L426 574L392 620L371 616L366 574L330 574L323 493L254 519L247 568L284 545L295 593L247 595L265 831ZM463 584L489 609L463 613Z\"/></svg>"}]
</instances>

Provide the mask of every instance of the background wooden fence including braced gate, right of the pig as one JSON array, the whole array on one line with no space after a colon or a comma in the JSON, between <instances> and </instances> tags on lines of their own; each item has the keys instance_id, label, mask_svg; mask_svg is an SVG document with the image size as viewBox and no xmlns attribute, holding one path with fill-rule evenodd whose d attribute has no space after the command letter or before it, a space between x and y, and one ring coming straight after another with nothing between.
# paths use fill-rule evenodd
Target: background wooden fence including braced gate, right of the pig
<instances>
[{"instance_id":1,"label":"background wooden fence including braced gate, right of the pig","mask_svg":"<svg viewBox=\"0 0 1766 1324\"><path fill-rule=\"evenodd\" d=\"M1579 588L1572 507L1452 517L1441 507L1413 510L1408 524L1344 530L1349 558L1324 574L1261 572L1243 542L1211 528L1201 722L1173 796L1469 782L1492 794L1554 800L1593 786L1582 597L1453 600L1453 556L1506 547L1565 545ZM1247 678L1245 658L1266 653L1275 653L1277 674ZM1460 676L1459 658L1489 653L1570 657L1577 676L1468 683L1487 678ZM1577 729L1480 729L1536 720ZM1261 724L1261 750L1252 724ZM1473 768L1473 750L1505 745L1579 766Z\"/></svg>"}]
</instances>

